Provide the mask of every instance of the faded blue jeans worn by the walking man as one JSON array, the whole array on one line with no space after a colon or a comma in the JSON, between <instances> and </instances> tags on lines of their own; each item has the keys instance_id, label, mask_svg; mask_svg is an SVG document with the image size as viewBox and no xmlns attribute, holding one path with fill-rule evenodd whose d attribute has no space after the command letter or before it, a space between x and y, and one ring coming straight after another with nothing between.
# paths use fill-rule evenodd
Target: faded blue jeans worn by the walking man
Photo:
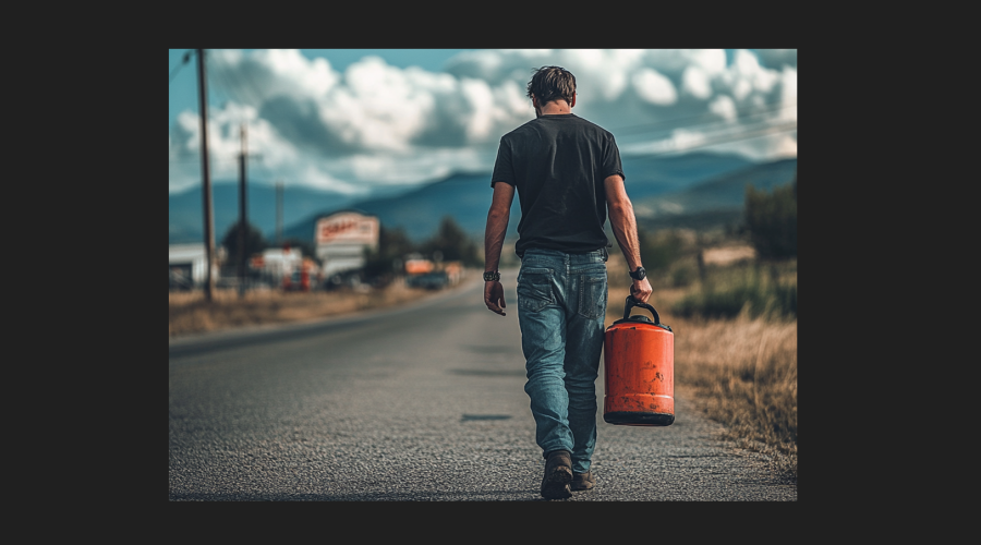
<instances>
[{"instance_id":1,"label":"faded blue jeans worn by the walking man","mask_svg":"<svg viewBox=\"0 0 981 545\"><path fill-rule=\"evenodd\" d=\"M596 446L596 377L606 316L606 249L586 254L525 251L518 274L518 324L542 455L572 452L590 469Z\"/></svg>"}]
</instances>

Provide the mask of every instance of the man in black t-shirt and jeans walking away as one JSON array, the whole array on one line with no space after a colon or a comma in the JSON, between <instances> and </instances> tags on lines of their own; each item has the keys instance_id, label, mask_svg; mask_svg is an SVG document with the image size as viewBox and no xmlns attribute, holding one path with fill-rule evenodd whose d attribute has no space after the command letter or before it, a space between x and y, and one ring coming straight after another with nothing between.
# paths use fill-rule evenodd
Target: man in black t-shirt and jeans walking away
<instances>
[{"instance_id":1,"label":"man in black t-shirt and jeans walking away","mask_svg":"<svg viewBox=\"0 0 981 545\"><path fill-rule=\"evenodd\" d=\"M641 266L633 206L613 135L571 112L576 77L537 69L528 84L535 119L500 140L491 177L494 196L484 233L484 304L506 315L498 264L514 192L521 204L518 323L545 457L542 496L567 498L592 488L596 445L596 377L606 315L607 210L643 302L651 284Z\"/></svg>"}]
</instances>

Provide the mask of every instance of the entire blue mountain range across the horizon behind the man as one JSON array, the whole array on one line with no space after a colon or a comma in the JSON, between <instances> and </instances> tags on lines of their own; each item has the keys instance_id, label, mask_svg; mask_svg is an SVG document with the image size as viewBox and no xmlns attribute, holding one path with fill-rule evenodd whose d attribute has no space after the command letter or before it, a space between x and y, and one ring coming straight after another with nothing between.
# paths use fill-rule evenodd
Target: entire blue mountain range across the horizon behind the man
<instances>
[{"instance_id":1,"label":"entire blue mountain range across the horizon behind the man","mask_svg":"<svg viewBox=\"0 0 981 545\"><path fill-rule=\"evenodd\" d=\"M770 189L789 181L797 159L755 164L741 156L692 153L679 156L623 157L627 193L639 220L659 225L717 216L738 215L746 183ZM491 173L456 173L448 178L398 190L385 196L354 199L348 195L306 187L284 190L283 237L313 241L317 218L342 209L358 209L378 216L386 228L402 227L415 241L436 232L444 216L451 216L476 239L483 237L491 206ZM221 238L239 217L237 182L218 181L213 185L215 238ZM202 238L201 186L170 195L170 243L199 242ZM276 190L262 181L249 183L249 221L272 240L276 235ZM734 216L735 217L735 216ZM713 219L714 218L714 219ZM508 237L517 235L521 209L518 198L511 206Z\"/></svg>"}]
</instances>

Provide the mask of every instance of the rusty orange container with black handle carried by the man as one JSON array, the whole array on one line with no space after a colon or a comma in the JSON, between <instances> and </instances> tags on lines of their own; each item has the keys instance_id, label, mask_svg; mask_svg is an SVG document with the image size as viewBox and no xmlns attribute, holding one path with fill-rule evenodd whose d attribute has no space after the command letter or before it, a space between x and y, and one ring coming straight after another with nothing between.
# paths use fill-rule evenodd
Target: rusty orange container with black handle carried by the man
<instances>
[{"instance_id":1,"label":"rusty orange container with black handle carried by the man","mask_svg":"<svg viewBox=\"0 0 981 545\"><path fill-rule=\"evenodd\" d=\"M654 319L631 316L634 306L651 311ZM675 334L653 306L627 298L623 319L606 328L603 363L604 421L626 426L675 422Z\"/></svg>"}]
</instances>

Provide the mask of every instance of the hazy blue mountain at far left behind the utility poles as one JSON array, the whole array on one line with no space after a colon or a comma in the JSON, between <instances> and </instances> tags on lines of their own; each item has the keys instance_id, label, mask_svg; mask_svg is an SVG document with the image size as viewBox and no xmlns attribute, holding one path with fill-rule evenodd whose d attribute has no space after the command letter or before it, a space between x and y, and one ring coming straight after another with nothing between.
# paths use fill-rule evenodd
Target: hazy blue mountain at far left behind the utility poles
<instances>
[{"instance_id":1,"label":"hazy blue mountain at far left behind the utility poles","mask_svg":"<svg viewBox=\"0 0 981 545\"><path fill-rule=\"evenodd\" d=\"M249 222L256 226L268 240L276 237L276 187L266 182L250 181L245 203ZM215 214L215 242L239 220L238 182L217 181L211 185ZM282 222L286 227L318 210L347 206L353 197L340 193L307 187L286 186L282 192ZM170 243L201 242L204 240L201 185L170 195Z\"/></svg>"}]
</instances>

